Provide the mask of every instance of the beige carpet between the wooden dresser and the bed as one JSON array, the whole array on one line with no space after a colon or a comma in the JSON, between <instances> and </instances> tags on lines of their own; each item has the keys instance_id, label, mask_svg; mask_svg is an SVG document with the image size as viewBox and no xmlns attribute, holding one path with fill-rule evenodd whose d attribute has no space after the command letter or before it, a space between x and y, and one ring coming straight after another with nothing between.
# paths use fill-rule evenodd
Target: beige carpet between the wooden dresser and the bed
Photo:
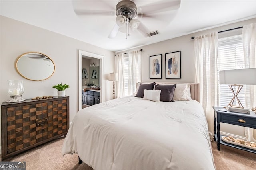
<instances>
[{"instance_id":1,"label":"beige carpet between the wooden dresser and the bed","mask_svg":"<svg viewBox=\"0 0 256 170\"><path fill-rule=\"evenodd\" d=\"M77 154L62 156L64 137L30 149L10 161L25 161L26 170L93 170L85 163L78 164Z\"/></svg>"}]
</instances>

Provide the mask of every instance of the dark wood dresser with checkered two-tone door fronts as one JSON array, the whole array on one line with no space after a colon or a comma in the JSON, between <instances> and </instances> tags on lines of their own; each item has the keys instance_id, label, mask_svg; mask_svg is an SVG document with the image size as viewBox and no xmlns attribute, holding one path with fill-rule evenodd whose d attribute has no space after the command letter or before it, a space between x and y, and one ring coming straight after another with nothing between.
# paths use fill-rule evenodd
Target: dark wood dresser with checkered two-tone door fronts
<instances>
[{"instance_id":1,"label":"dark wood dresser with checkered two-tone door fronts","mask_svg":"<svg viewBox=\"0 0 256 170\"><path fill-rule=\"evenodd\" d=\"M1 106L2 160L62 135L69 128L69 96Z\"/></svg>"}]
</instances>

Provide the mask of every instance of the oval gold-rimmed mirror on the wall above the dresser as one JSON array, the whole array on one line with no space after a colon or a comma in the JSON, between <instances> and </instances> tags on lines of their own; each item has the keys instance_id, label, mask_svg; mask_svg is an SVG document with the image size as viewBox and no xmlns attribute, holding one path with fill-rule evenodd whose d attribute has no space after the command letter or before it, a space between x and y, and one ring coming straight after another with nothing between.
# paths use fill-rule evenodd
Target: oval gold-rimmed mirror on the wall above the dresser
<instances>
[{"instance_id":1,"label":"oval gold-rimmed mirror on the wall above the dresser","mask_svg":"<svg viewBox=\"0 0 256 170\"><path fill-rule=\"evenodd\" d=\"M28 80L42 81L52 76L55 65L52 59L43 53L28 52L18 57L16 69Z\"/></svg>"}]
</instances>

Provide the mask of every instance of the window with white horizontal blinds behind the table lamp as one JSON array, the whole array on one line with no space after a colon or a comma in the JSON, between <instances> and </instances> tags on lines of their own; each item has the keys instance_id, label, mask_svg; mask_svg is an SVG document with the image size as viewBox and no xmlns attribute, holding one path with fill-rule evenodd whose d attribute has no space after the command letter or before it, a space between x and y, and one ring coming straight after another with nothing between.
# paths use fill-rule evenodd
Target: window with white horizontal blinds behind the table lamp
<instances>
[{"instance_id":1,"label":"window with white horizontal blinds behind the table lamp","mask_svg":"<svg viewBox=\"0 0 256 170\"><path fill-rule=\"evenodd\" d=\"M219 37L217 67L218 71L249 68L249 63L245 63L244 61L243 39L241 33L228 37ZM248 86L244 85L238 94L238 98L243 106L245 106L246 102L246 93L249 93L249 90L246 90L246 88L248 88ZM232 92L227 84L219 84L218 92L218 105L224 107L232 99ZM237 101L235 100L235 102ZM238 103L234 104L238 105Z\"/></svg>"}]
</instances>

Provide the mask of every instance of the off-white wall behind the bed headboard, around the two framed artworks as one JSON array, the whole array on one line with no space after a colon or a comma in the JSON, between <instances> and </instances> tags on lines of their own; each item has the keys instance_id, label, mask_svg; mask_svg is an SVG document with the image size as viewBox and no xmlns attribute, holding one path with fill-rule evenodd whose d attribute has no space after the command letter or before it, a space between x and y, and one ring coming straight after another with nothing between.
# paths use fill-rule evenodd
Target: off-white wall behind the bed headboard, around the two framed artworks
<instances>
[{"instance_id":1,"label":"off-white wall behind the bed headboard, around the two framed artworks","mask_svg":"<svg viewBox=\"0 0 256 170\"><path fill-rule=\"evenodd\" d=\"M241 21L229 25L224 25L221 27L216 27L214 29L208 29L205 31L200 31L192 33L189 35L184 35L174 39L169 39L159 43L154 43L150 45L145 45L135 49L130 49L118 53L126 53L132 50L143 49L142 51L142 82L195 82L195 64L194 64L194 40L191 37L196 37L201 34L209 33L212 31L224 31L227 29L233 29L236 27L241 27L248 25L250 23L255 23L256 18ZM157 35L156 35L157 36ZM181 51L181 78L180 79L166 79L165 78L165 53L170 53L174 51ZM149 78L149 56L162 54L162 79L150 79ZM213 112L213 111L212 111ZM244 128L228 125L221 123L221 131L224 133L230 133L238 136L245 137Z\"/></svg>"}]
</instances>

